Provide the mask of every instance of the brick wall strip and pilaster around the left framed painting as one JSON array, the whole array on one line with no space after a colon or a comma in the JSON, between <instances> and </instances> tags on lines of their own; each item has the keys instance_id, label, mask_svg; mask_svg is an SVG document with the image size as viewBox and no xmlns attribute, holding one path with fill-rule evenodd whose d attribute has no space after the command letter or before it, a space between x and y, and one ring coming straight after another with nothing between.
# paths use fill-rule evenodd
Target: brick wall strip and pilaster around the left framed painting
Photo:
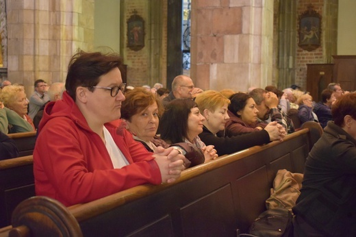
<instances>
[{"instance_id":1,"label":"brick wall strip and pilaster around the left framed painting","mask_svg":"<svg viewBox=\"0 0 356 237\"><path fill-rule=\"evenodd\" d=\"M166 86L167 1L125 0L123 14L123 58L127 64L127 84ZM127 20L138 14L144 19L144 47L138 51L127 47Z\"/></svg>"}]
</instances>

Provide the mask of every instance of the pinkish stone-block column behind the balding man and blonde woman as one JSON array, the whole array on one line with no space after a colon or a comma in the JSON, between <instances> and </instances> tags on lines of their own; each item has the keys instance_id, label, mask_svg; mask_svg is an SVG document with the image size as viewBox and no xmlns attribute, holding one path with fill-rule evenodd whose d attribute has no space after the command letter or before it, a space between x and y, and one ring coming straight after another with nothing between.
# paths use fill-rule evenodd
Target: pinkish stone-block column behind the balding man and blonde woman
<instances>
[{"instance_id":1,"label":"pinkish stone-block column behind the balding man and blonde woman","mask_svg":"<svg viewBox=\"0 0 356 237\"><path fill-rule=\"evenodd\" d=\"M273 1L192 1L191 71L204 90L272 82Z\"/></svg>"}]
</instances>

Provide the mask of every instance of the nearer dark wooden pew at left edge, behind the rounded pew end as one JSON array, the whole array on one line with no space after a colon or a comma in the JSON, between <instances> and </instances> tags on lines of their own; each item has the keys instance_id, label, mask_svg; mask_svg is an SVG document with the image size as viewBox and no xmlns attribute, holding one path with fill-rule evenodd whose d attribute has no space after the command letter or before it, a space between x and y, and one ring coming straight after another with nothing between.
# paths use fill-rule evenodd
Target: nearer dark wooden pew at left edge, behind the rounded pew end
<instances>
[{"instance_id":1,"label":"nearer dark wooden pew at left edge, behind the rounded pew end","mask_svg":"<svg viewBox=\"0 0 356 237\"><path fill-rule=\"evenodd\" d=\"M18 203L34 195L32 155L0 160L0 228L10 225Z\"/></svg>"}]
</instances>

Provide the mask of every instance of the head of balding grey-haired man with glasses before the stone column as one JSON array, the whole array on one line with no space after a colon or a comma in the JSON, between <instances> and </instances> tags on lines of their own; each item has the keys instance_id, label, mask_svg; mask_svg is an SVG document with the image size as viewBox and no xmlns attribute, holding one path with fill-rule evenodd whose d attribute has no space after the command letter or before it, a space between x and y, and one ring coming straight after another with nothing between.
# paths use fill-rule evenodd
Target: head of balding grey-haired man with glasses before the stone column
<instances>
[{"instance_id":1,"label":"head of balding grey-haired man with glasses before the stone column","mask_svg":"<svg viewBox=\"0 0 356 237\"><path fill-rule=\"evenodd\" d=\"M186 75L178 75L173 79L172 91L170 91L168 97L163 99L163 105L166 105L173 101L173 99L186 99L194 98L197 94L203 92L200 88L194 87L192 79Z\"/></svg>"}]
</instances>

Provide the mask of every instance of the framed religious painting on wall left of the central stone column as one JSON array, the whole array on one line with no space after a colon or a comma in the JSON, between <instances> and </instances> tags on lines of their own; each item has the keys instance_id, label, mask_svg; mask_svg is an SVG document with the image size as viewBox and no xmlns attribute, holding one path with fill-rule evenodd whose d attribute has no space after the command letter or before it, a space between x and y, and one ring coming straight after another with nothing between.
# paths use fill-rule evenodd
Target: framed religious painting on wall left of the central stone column
<instances>
[{"instance_id":1,"label":"framed religious painting on wall left of the central stone column","mask_svg":"<svg viewBox=\"0 0 356 237\"><path fill-rule=\"evenodd\" d=\"M136 10L127 20L127 47L133 51L144 47L144 20Z\"/></svg>"}]
</instances>

